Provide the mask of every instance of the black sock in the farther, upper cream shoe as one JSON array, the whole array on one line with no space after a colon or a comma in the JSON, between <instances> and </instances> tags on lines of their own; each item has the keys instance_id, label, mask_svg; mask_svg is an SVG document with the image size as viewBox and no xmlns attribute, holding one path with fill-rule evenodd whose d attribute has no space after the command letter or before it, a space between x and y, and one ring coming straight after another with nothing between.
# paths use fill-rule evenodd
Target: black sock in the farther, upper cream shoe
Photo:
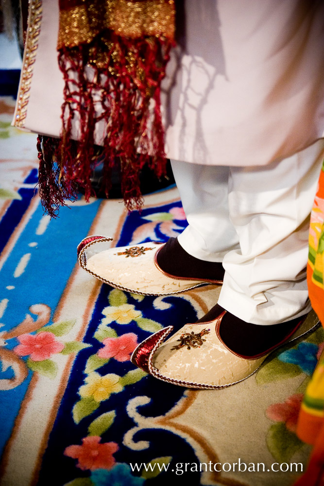
<instances>
[{"instance_id":1,"label":"black sock in the farther, upper cream shoe","mask_svg":"<svg viewBox=\"0 0 324 486\"><path fill-rule=\"evenodd\" d=\"M225 273L222 263L192 257L176 238L170 238L160 249L157 254L157 264L164 272L175 277L222 281Z\"/></svg>"}]
</instances>

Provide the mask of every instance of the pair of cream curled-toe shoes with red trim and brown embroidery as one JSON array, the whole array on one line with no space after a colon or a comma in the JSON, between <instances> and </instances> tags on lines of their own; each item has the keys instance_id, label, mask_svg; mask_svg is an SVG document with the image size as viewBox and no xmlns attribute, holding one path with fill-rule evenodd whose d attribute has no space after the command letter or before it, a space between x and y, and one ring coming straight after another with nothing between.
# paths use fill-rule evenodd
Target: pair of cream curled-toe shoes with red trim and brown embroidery
<instances>
[{"instance_id":1,"label":"pair of cream curled-toe shoes with red trim and brown embroidery","mask_svg":"<svg viewBox=\"0 0 324 486\"><path fill-rule=\"evenodd\" d=\"M221 279L177 277L163 271L157 258L168 243L107 249L111 241L112 238L103 236L88 236L78 245L77 251L80 265L113 287L134 294L171 295L206 283L222 284ZM165 253L168 255L168 251ZM222 264L218 265L216 270L221 278ZM178 269L180 267L178 265ZM198 267L199 261L194 262L195 272ZM186 324L167 341L173 326L152 334L136 347L131 361L165 382L189 388L224 388L251 376L275 349L314 330L318 324L316 314L310 312L280 325L256 326L216 304L202 319ZM255 347L249 346L249 340L256 332L263 332L263 341L259 340L261 349L254 352Z\"/></svg>"}]
</instances>

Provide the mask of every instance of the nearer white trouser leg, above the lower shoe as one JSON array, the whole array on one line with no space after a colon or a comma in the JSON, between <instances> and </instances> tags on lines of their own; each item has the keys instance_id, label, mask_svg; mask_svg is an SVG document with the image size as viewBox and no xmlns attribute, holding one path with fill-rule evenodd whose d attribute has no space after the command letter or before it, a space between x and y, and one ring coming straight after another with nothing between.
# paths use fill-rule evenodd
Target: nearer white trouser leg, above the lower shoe
<instances>
[{"instance_id":1,"label":"nearer white trouser leg, above the lower shoe","mask_svg":"<svg viewBox=\"0 0 324 486\"><path fill-rule=\"evenodd\" d=\"M229 211L240 249L223 259L219 304L243 321L271 325L310 310L309 216L324 139L277 163L230 168Z\"/></svg>"}]
</instances>

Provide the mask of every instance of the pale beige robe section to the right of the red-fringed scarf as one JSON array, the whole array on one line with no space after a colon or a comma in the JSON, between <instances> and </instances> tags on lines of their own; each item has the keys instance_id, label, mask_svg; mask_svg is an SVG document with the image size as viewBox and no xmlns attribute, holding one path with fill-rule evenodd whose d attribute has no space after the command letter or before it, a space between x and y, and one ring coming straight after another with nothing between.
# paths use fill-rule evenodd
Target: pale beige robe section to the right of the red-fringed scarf
<instances>
[{"instance_id":1,"label":"pale beige robe section to the right of the red-fringed scarf","mask_svg":"<svg viewBox=\"0 0 324 486\"><path fill-rule=\"evenodd\" d=\"M324 1L184 5L163 81L171 159L264 165L323 137Z\"/></svg>"}]
</instances>

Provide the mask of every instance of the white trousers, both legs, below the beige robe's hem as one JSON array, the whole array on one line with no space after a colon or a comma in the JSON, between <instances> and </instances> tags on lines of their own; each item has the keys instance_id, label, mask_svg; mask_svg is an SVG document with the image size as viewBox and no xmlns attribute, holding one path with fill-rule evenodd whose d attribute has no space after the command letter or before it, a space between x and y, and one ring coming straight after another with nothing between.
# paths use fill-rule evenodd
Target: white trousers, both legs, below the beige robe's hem
<instances>
[{"instance_id":1,"label":"white trousers, both legs, below the beige robe's hem","mask_svg":"<svg viewBox=\"0 0 324 486\"><path fill-rule=\"evenodd\" d=\"M222 261L218 303L253 324L277 324L310 310L309 215L324 139L258 167L172 160L189 226L178 237L190 255Z\"/></svg>"}]
</instances>

